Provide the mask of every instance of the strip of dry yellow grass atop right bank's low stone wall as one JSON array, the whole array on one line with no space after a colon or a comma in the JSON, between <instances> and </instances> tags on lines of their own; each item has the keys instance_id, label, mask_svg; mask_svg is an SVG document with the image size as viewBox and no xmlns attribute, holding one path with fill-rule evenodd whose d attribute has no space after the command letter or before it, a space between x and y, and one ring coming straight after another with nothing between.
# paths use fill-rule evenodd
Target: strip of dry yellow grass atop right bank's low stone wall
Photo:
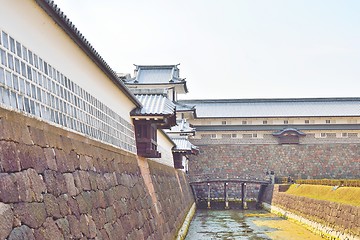
<instances>
[{"instance_id":1,"label":"strip of dry yellow grass atop right bank's low stone wall","mask_svg":"<svg viewBox=\"0 0 360 240\"><path fill-rule=\"evenodd\" d=\"M332 186L293 184L286 193L330 202L360 206L359 187L340 187L334 189Z\"/></svg>"}]
</instances>

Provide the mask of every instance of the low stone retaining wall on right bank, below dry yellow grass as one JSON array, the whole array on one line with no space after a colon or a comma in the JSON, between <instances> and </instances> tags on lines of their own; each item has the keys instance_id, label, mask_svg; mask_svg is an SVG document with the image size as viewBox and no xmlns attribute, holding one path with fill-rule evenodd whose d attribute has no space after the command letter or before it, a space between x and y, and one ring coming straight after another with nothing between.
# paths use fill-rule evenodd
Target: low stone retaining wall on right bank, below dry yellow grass
<instances>
[{"instance_id":1,"label":"low stone retaining wall on right bank, below dry yellow grass","mask_svg":"<svg viewBox=\"0 0 360 240\"><path fill-rule=\"evenodd\" d=\"M281 211L282 215L291 217L290 214L295 214L297 221L324 237L360 238L360 207L295 196L282 188L281 185L270 185L265 194L267 203L285 210Z\"/></svg>"}]
</instances>

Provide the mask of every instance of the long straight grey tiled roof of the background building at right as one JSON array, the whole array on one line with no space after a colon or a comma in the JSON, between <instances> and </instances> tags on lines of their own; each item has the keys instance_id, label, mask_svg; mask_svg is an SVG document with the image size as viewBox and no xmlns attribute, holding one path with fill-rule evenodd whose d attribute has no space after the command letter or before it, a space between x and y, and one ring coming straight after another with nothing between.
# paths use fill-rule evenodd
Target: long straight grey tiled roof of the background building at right
<instances>
[{"instance_id":1,"label":"long straight grey tiled roof of the background building at right","mask_svg":"<svg viewBox=\"0 0 360 240\"><path fill-rule=\"evenodd\" d=\"M198 118L360 116L360 98L182 100Z\"/></svg>"}]
</instances>

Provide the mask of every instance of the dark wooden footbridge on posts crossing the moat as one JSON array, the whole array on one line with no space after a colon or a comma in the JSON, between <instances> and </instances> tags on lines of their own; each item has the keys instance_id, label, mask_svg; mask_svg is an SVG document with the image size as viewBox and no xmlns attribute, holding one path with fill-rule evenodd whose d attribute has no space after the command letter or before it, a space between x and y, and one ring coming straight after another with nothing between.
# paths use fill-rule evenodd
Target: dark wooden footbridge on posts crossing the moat
<instances>
[{"instance_id":1,"label":"dark wooden footbridge on posts crossing the moat","mask_svg":"<svg viewBox=\"0 0 360 240\"><path fill-rule=\"evenodd\" d=\"M198 204L198 196L195 190L195 186L205 185L207 186L207 208L211 208L211 185L212 184L224 184L224 203L225 209L229 209L229 198L228 198L228 184L235 183L239 184L239 190L241 189L241 209L245 209L245 191L247 184L256 184L260 185L259 194L257 196L257 203L261 202L262 196L264 194L265 188L270 181L268 180L257 180L257 179L239 179L239 178L214 178L214 179L205 179L205 180L196 180L190 182L191 189L193 191L196 204Z\"/></svg>"}]
</instances>

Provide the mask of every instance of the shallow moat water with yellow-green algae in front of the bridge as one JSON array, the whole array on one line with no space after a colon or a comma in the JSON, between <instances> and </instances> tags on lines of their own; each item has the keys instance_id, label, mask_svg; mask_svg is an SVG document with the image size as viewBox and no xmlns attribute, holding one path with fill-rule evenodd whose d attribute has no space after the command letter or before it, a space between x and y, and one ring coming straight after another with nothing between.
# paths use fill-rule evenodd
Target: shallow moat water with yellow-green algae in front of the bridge
<instances>
[{"instance_id":1,"label":"shallow moat water with yellow-green algae in front of the bridge","mask_svg":"<svg viewBox=\"0 0 360 240\"><path fill-rule=\"evenodd\" d=\"M320 240L320 236L266 211L198 210L186 240Z\"/></svg>"}]
</instances>

